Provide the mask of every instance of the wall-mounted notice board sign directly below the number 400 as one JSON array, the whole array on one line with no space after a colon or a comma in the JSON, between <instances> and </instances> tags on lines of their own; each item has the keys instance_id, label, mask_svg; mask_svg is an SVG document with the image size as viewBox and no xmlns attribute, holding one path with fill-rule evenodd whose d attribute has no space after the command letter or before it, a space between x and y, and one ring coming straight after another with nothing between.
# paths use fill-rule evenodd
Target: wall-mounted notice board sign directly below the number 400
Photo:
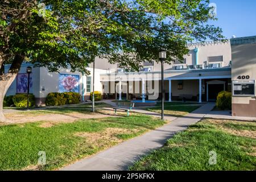
<instances>
[{"instance_id":1,"label":"wall-mounted notice board sign directly below the number 400","mask_svg":"<svg viewBox=\"0 0 256 182\"><path fill-rule=\"evenodd\" d=\"M255 96L255 80L234 80L233 96Z\"/></svg>"}]
</instances>

